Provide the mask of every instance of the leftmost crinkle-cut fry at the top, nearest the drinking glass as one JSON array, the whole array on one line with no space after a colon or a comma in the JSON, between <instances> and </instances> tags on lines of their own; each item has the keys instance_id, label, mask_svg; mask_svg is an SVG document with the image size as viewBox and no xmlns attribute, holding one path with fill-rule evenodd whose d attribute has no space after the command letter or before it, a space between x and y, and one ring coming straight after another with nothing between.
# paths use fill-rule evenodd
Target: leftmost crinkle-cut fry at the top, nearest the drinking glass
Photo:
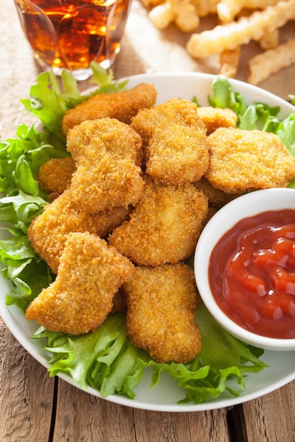
<instances>
[{"instance_id":1,"label":"leftmost crinkle-cut fry at the top, nearest the drinking glass","mask_svg":"<svg viewBox=\"0 0 295 442\"><path fill-rule=\"evenodd\" d=\"M192 32L199 26L197 10L190 0L168 0L149 12L149 18L158 29L175 22L183 32Z\"/></svg>"}]
</instances>

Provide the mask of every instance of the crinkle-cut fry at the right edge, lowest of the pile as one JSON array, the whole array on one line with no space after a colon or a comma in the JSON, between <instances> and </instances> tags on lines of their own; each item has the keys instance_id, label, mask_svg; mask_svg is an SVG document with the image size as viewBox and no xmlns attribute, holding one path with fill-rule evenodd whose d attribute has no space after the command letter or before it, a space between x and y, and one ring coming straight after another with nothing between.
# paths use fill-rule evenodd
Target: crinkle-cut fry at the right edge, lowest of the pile
<instances>
[{"instance_id":1,"label":"crinkle-cut fry at the right edge, lowest of the pile","mask_svg":"<svg viewBox=\"0 0 295 442\"><path fill-rule=\"evenodd\" d=\"M295 64L295 38L279 44L274 49L253 56L249 62L250 75L248 83L257 85L266 80L272 73Z\"/></svg>"}]
</instances>

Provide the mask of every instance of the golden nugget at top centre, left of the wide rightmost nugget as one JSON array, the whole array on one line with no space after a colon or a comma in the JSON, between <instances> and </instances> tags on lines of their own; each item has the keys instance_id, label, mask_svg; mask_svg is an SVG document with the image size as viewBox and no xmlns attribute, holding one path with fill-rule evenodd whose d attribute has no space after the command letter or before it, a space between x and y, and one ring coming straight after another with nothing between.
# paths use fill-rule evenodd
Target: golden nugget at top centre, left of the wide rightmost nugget
<instances>
[{"instance_id":1,"label":"golden nugget at top centre, left of the wide rightmost nugget","mask_svg":"<svg viewBox=\"0 0 295 442\"><path fill-rule=\"evenodd\" d=\"M209 146L195 103L175 98L141 109L131 126L144 140L146 173L154 179L192 183L206 172Z\"/></svg>"}]
</instances>

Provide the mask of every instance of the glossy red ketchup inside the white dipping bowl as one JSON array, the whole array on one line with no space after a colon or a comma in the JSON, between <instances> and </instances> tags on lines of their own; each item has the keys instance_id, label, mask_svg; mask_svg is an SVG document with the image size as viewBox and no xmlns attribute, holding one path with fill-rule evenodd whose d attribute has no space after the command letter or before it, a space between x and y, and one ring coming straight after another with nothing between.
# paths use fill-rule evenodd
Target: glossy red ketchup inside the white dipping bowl
<instances>
[{"instance_id":1,"label":"glossy red ketchup inside the white dipping bowl","mask_svg":"<svg viewBox=\"0 0 295 442\"><path fill-rule=\"evenodd\" d=\"M238 222L212 251L209 283L238 325L269 338L295 338L295 210Z\"/></svg>"}]
</instances>

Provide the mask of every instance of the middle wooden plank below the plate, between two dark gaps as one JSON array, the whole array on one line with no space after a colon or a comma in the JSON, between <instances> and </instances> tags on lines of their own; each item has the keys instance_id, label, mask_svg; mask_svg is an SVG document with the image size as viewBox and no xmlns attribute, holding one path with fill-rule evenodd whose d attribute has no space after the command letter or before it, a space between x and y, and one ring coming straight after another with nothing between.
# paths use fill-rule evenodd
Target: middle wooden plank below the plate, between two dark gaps
<instances>
[{"instance_id":1,"label":"middle wooden plank below the plate, between two dark gaps","mask_svg":"<svg viewBox=\"0 0 295 442\"><path fill-rule=\"evenodd\" d=\"M100 400L59 380L53 442L229 442L226 409L169 413Z\"/></svg>"}]
</instances>

